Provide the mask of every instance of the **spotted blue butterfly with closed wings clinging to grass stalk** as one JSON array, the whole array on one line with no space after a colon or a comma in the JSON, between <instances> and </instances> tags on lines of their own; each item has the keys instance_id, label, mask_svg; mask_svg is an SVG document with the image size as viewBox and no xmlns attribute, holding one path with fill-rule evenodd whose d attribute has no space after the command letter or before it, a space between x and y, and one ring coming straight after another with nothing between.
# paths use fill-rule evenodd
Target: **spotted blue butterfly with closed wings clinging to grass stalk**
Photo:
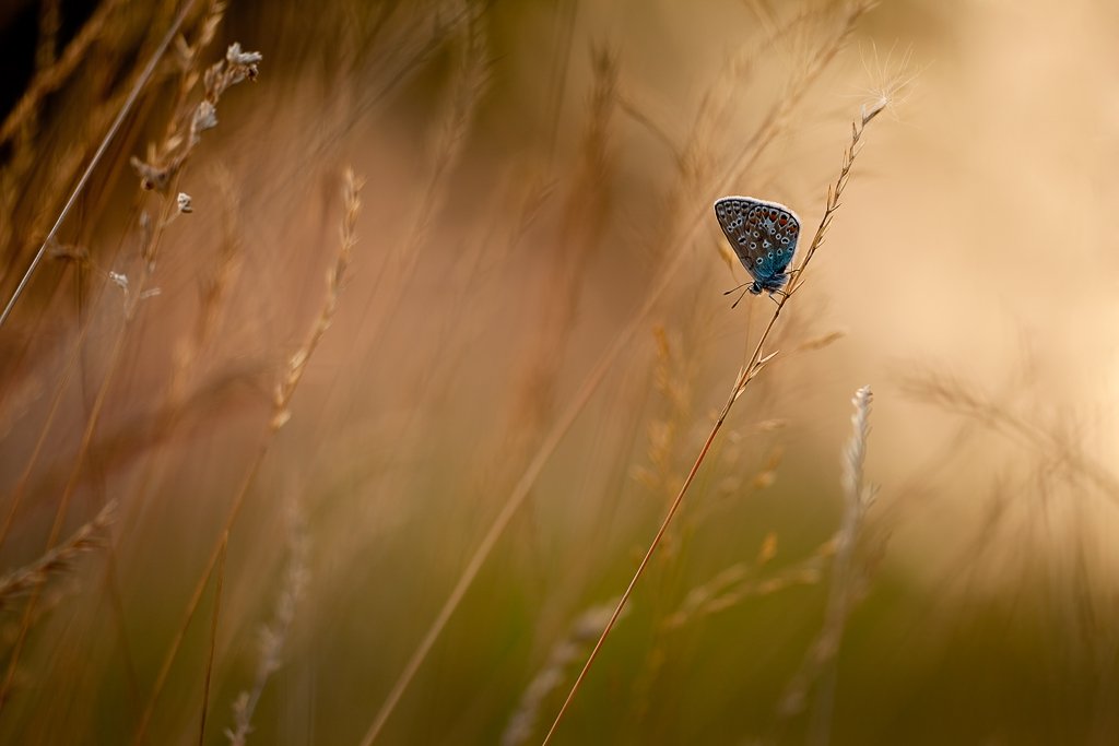
<instances>
[{"instance_id":1,"label":"spotted blue butterfly with closed wings clinging to grass stalk","mask_svg":"<svg viewBox=\"0 0 1119 746\"><path fill-rule=\"evenodd\" d=\"M753 197L723 197L715 200L715 217L742 266L754 278L746 283L746 290L754 295L761 295L762 291L770 295L783 292L781 289L789 282L786 268L800 237L800 218L796 213L784 205Z\"/></svg>"}]
</instances>

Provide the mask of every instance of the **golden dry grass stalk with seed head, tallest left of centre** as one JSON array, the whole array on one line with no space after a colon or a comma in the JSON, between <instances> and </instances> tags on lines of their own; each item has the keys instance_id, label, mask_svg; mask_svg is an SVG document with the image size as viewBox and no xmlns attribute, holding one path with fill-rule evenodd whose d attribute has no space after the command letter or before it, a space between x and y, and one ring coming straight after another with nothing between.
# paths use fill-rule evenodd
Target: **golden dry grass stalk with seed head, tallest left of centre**
<instances>
[{"instance_id":1,"label":"golden dry grass stalk with seed head, tallest left of centre","mask_svg":"<svg viewBox=\"0 0 1119 746\"><path fill-rule=\"evenodd\" d=\"M244 507L250 489L256 481L256 475L264 462L264 456L267 455L269 446L271 445L274 435L291 418L289 405L295 394L295 389L299 386L300 380L303 378L303 374L307 370L307 363L310 360L311 355L318 348L319 342L322 340L322 336L326 333L327 329L330 328L330 323L333 320L336 311L338 310L338 301L345 285L346 272L349 268L354 247L357 245L356 226L357 217L361 207L359 193L363 183L361 180L355 176L352 169L346 170L344 180L341 237L338 254L335 257L335 263L327 272L327 293L323 299L322 308L314 318L314 321L311 323L311 329L308 332L303 344L288 359L288 363L284 366L284 370L275 386L272 400L272 416L270 417L267 424L269 437L265 438L264 443L260 446L256 456L248 464L242 483L233 498L229 511L226 514L225 523L222 528L217 544L210 551L209 558L203 568L201 576L195 585L190 599L187 602L187 610L184 614L182 622L171 639L171 643L163 657L159 672L156 676L156 681L152 684L151 692L149 693L148 703L140 717L139 724L137 725L137 729L133 735L133 743L135 744L142 743L147 736L148 725L150 724L151 716L154 712L156 703L162 693L164 684L167 683L167 678L171 671L171 664L175 662L179 649L182 645L182 640L186 638L187 629L190 626L190 622L194 620L195 613L198 611L198 605L201 603L201 597L206 591L206 586L209 584L210 577L213 576L218 564L222 561L222 558L225 556L233 525L236 522L237 516Z\"/></svg>"}]
</instances>

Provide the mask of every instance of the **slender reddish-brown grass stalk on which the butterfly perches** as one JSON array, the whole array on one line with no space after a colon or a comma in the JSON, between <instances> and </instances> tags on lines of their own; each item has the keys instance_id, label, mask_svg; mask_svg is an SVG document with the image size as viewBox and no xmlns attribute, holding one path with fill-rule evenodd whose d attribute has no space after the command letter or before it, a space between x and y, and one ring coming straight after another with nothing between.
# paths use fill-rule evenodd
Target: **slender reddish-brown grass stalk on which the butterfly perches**
<instances>
[{"instance_id":1,"label":"slender reddish-brown grass stalk on which the butterfly perches","mask_svg":"<svg viewBox=\"0 0 1119 746\"><path fill-rule=\"evenodd\" d=\"M564 714L571 706L572 700L575 698L575 692L579 691L579 688L582 684L583 679L586 678L586 673L591 669L591 664L594 663L594 659L598 657L599 651L602 649L602 644L605 642L606 636L610 634L610 631L613 629L614 623L618 621L618 617L621 615L622 610L626 607L626 603L629 601L630 594L633 593L634 586L637 585L641 576L645 574L645 568L648 566L649 560L652 558L653 553L660 545L660 541L664 538L665 532L668 530L669 525L673 522L673 518L676 516L676 512L679 509L680 503L683 503L684 501L684 495L687 493L688 488L692 485L692 481L695 479L696 473L698 473L699 466L703 465L704 460L707 457L707 452L711 450L712 443L714 443L715 437L722 429L723 423L726 422L726 417L731 413L731 408L734 406L734 403L739 400L739 397L742 396L742 394L745 391L746 386L750 384L750 381L753 380L753 378L761 372L765 363L769 362L771 359L773 359L773 357L777 355L777 352L774 351L762 357L762 349L765 344L765 341L769 339L770 332L777 324L777 320L780 318L781 311L784 309L786 303L788 303L789 300L792 298L793 293L796 293L802 286L805 268L808 266L808 263L816 254L816 251L824 243L827 229L831 225L831 218L834 217L836 210L839 208L839 197L843 195L843 191L846 188L848 180L850 179L850 169L854 166L855 157L858 154L859 142L862 140L863 132L866 129L866 125L872 120L874 120L874 117L877 116L883 111L884 107L885 107L884 103L871 108L864 107L859 119L852 123L852 141L847 150L844 151L843 167L840 168L839 171L839 178L836 179L835 185L829 187L828 189L828 198L824 211L824 217L820 219L820 225L816 229L816 235L812 237L812 243L809 245L808 251L805 253L805 258L801 261L800 265L794 271L796 280L793 281L793 284L790 287L789 293L787 295L782 295L781 299L777 302L777 308L773 310L773 315L770 318L769 323L762 331L762 334L759 338L758 343L754 347L754 351L750 356L749 361L740 371L739 377L735 380L734 388L731 390L731 395L727 398L726 404L723 405L723 410L715 419L715 424L712 426L711 433L707 435L707 440L699 448L699 453L696 456L695 462L692 464L692 469L688 471L688 475L685 478L684 483L680 485L679 492L676 494L676 499L673 500L671 506L669 506L668 513L665 516L665 519L660 523L660 528L657 530L656 536L653 536L652 541L649 544L649 549L646 551L645 557L641 559L641 564L638 565L637 570L633 573L633 577L630 579L629 585L626 588L626 592L619 599L614 613L611 615L610 621L606 623L605 629L603 629L602 634L599 636L598 643L595 643L594 648L591 650L591 654L587 657L586 663L583 665L583 670L580 671L579 677L572 684L571 691L567 693L567 698L564 700L563 706L556 714L555 720L552 724L552 728L544 737L544 744L547 744L552 739L552 736L555 733L556 728L558 727L560 721L563 719Z\"/></svg>"}]
</instances>

